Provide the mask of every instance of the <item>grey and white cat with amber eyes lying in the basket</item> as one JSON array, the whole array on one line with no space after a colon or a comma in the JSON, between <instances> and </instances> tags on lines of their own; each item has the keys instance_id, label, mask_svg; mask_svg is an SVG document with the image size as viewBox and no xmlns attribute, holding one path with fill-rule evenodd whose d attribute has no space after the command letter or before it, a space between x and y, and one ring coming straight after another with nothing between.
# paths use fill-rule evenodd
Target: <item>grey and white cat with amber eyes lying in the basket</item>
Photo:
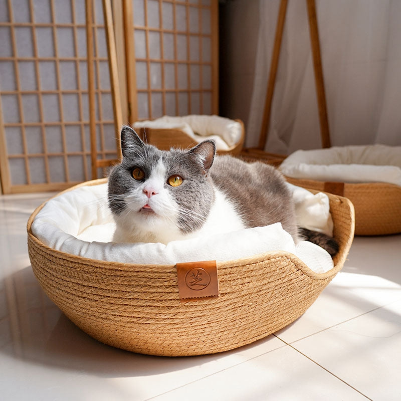
<instances>
[{"instance_id":1,"label":"grey and white cat with amber eyes lying in the basket","mask_svg":"<svg viewBox=\"0 0 401 401\"><path fill-rule=\"evenodd\" d=\"M122 162L108 183L115 242L167 244L280 222L295 242L309 239L337 252L331 237L296 226L292 196L272 166L216 156L211 140L189 150L159 150L128 126L121 147Z\"/></svg>"}]
</instances>

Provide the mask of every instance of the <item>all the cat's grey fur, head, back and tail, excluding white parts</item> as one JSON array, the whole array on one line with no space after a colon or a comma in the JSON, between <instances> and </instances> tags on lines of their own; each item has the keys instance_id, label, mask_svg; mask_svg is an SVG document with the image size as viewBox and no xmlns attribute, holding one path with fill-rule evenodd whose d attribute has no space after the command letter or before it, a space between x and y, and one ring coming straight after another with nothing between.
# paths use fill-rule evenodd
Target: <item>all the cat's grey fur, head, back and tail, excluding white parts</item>
<instances>
[{"instance_id":1,"label":"all the cat's grey fur, head, back and tail, excluding white parts","mask_svg":"<svg viewBox=\"0 0 401 401\"><path fill-rule=\"evenodd\" d=\"M283 175L270 165L246 163L231 156L215 156L215 143L209 140L189 150L159 150L144 144L130 127L123 127L121 144L123 160L112 169L108 184L109 206L116 216L127 209L125 195L140 184L132 177L133 169L140 167L145 172L145 181L161 159L166 169L164 188L180 210L176 224L181 233L188 234L202 228L215 202L217 188L235 205L245 227L280 222L296 242L307 238L331 255L338 250L330 237L303 229L299 232L292 195ZM167 180L175 174L183 178L183 183L171 187Z\"/></svg>"}]
</instances>

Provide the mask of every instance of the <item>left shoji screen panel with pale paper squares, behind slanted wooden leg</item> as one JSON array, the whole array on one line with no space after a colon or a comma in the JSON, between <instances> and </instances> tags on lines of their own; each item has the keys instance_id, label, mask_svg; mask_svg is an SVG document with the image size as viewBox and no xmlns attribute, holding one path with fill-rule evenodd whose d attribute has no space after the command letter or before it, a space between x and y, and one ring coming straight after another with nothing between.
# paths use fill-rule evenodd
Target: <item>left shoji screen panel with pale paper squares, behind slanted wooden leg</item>
<instances>
[{"instance_id":1,"label":"left shoji screen panel with pale paper squares, behind slanted wooden leg","mask_svg":"<svg viewBox=\"0 0 401 401\"><path fill-rule=\"evenodd\" d=\"M99 158L116 158L102 2L94 7ZM91 178L85 0L0 0L4 192Z\"/></svg>"}]
</instances>

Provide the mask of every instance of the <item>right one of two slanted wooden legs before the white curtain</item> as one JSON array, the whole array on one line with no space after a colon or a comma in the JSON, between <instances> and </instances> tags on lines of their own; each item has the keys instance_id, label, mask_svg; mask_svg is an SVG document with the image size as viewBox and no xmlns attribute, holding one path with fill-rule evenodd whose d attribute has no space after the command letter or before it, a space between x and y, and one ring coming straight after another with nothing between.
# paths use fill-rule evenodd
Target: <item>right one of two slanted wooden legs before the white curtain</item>
<instances>
[{"instance_id":1,"label":"right one of two slanted wooden legs before the white curtain","mask_svg":"<svg viewBox=\"0 0 401 401\"><path fill-rule=\"evenodd\" d=\"M317 28L315 0L306 0L308 7L309 33L315 72L316 96L319 108L320 136L322 147L330 147L330 132L327 120L326 96L324 93L322 59L320 55L319 31Z\"/></svg>"}]
</instances>

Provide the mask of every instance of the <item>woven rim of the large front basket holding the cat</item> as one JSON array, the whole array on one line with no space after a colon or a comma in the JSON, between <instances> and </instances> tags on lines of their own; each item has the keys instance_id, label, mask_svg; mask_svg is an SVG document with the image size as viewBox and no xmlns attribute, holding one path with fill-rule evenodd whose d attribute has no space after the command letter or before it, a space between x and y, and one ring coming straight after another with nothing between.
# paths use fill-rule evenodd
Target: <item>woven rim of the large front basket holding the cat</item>
<instances>
[{"instance_id":1,"label":"woven rim of the large front basket holding the cat","mask_svg":"<svg viewBox=\"0 0 401 401\"><path fill-rule=\"evenodd\" d=\"M56 249L53 249L49 247L48 245L44 244L42 241L40 241L35 235L32 233L32 223L37 216L37 214L42 210L42 208L46 205L46 203L63 194L66 192L69 192L71 190L77 189L82 186L92 186L92 185L100 185L106 183L108 178L100 178L100 179L94 179L90 181L85 181L81 182L77 185L74 185L68 189L65 189L54 196L50 197L47 199L43 204L38 206L35 211L31 214L30 218L28 219L27 223L27 232L28 232L28 238L29 240L33 241L36 243L37 246L40 248L46 250L47 253L53 254L53 256L62 258L64 260L69 260L71 262L79 262L84 265L91 265L93 266L93 263L96 263L101 266L102 268L110 268L115 271L115 268L119 268L121 270L129 271L132 269L137 269L139 267L146 266L147 269L158 269L160 271L174 271L175 270L175 264L174 265L159 265L159 264L134 264L134 263L122 263L122 262L109 262L109 261L103 261L103 260L98 260L98 259L90 259L90 258L85 258L82 256L77 256L73 254L69 254L66 252L61 252ZM312 192L319 192L312 190ZM326 193L326 192L325 192ZM354 221L354 209L353 205L350 202L349 199L343 197L343 196L338 196L338 195L333 195L331 193L326 193L329 196L329 199L331 201L338 199L339 202L345 203L345 207L349 209L349 213L351 215L351 220ZM241 259L235 259L235 260L229 260L229 261L224 261L224 262L218 262L218 268L219 269L225 269L225 268L232 268L232 267L241 267L245 265L250 265L250 264L257 264L260 262L268 261L270 259L277 259L278 257L286 259L287 261L293 263L299 270L302 271L303 274L307 275L308 277L314 279L314 280L325 280L328 277L334 276L337 274L341 269L342 266L345 262L345 259L348 255L349 248L351 247L352 240L353 240L353 234L354 234L354 225L350 228L350 233L349 233L349 238L342 250L341 254L337 254L335 259L336 262L334 263L334 266L332 269L325 273L316 273L313 270L311 270L303 261L301 261L298 257L296 257L294 254L286 251L270 251L270 252L265 252L259 255L253 255L251 257L246 257L246 258L241 258Z\"/></svg>"}]
</instances>

